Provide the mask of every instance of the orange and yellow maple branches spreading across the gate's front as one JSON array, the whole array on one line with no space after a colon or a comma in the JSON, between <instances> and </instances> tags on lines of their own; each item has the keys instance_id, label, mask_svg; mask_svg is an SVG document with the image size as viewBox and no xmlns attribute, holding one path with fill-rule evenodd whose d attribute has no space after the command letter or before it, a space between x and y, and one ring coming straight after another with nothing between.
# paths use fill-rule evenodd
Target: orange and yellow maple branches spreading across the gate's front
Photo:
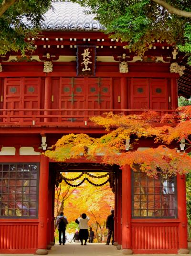
<instances>
[{"instance_id":1,"label":"orange and yellow maple branches spreading across the gate's front","mask_svg":"<svg viewBox=\"0 0 191 256\"><path fill-rule=\"evenodd\" d=\"M95 160L101 153L102 163L128 164L132 168L138 164L141 171L150 176L161 171L170 175L188 173L191 170L191 158L187 154L191 148L190 118L191 106L180 107L175 114L162 117L153 111L128 116L106 113L91 118L95 125L106 129L106 134L100 138L87 134L65 135L45 155L56 161L77 159L82 155ZM151 146L140 151L139 141L143 138L149 139ZM177 150L180 143L186 146L184 150Z\"/></svg>"}]
</instances>

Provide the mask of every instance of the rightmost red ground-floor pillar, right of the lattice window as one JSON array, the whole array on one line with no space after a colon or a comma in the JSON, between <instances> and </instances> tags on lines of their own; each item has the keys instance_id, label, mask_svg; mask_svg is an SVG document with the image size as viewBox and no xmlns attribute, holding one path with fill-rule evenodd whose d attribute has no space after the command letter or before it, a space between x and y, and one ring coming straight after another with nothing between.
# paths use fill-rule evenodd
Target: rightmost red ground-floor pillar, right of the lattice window
<instances>
[{"instance_id":1,"label":"rightmost red ground-floor pillar, right of the lattice window","mask_svg":"<svg viewBox=\"0 0 191 256\"><path fill-rule=\"evenodd\" d=\"M186 177L177 175L177 199L179 224L179 253L189 253L187 240Z\"/></svg>"}]
</instances>

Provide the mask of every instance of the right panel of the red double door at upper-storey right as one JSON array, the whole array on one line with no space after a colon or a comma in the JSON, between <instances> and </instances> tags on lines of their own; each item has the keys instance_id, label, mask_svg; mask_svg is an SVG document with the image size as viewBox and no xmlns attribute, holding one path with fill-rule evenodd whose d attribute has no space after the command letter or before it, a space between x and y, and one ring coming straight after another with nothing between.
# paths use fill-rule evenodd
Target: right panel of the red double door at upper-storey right
<instances>
[{"instance_id":1,"label":"right panel of the red double door at upper-storey right","mask_svg":"<svg viewBox=\"0 0 191 256\"><path fill-rule=\"evenodd\" d=\"M150 78L150 109L168 109L167 79Z\"/></svg>"}]
</instances>

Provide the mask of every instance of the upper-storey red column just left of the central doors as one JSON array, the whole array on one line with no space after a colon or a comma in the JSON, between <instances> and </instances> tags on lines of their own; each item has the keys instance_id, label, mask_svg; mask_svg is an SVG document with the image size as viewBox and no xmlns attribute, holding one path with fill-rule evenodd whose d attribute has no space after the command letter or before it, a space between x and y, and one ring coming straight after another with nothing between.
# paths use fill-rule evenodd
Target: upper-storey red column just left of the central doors
<instances>
[{"instance_id":1,"label":"upper-storey red column just left of the central doors","mask_svg":"<svg viewBox=\"0 0 191 256\"><path fill-rule=\"evenodd\" d=\"M52 78L45 77L45 89L44 89L44 108L51 108L51 86ZM50 115L49 111L44 111L44 115ZM49 122L50 118L44 118L44 122Z\"/></svg>"}]
</instances>

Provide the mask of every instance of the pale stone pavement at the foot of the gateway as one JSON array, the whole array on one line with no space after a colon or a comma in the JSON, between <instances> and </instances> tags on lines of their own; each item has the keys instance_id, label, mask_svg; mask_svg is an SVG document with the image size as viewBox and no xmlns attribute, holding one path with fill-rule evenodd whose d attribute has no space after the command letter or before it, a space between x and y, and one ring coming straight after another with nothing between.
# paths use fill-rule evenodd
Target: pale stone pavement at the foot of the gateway
<instances>
[{"instance_id":1,"label":"pale stone pavement at the foot of the gateway","mask_svg":"<svg viewBox=\"0 0 191 256\"><path fill-rule=\"evenodd\" d=\"M189 243L189 249L191 249L191 243ZM122 250L117 250L114 245L105 244L65 244L65 245L54 245L50 250L48 250L48 255L50 256L123 256ZM0 254L0 256L34 256L33 254ZM140 255L136 256L152 256ZM155 254L154 256L176 256L176 254ZM191 256L191 254L179 254L179 256Z\"/></svg>"}]
</instances>

